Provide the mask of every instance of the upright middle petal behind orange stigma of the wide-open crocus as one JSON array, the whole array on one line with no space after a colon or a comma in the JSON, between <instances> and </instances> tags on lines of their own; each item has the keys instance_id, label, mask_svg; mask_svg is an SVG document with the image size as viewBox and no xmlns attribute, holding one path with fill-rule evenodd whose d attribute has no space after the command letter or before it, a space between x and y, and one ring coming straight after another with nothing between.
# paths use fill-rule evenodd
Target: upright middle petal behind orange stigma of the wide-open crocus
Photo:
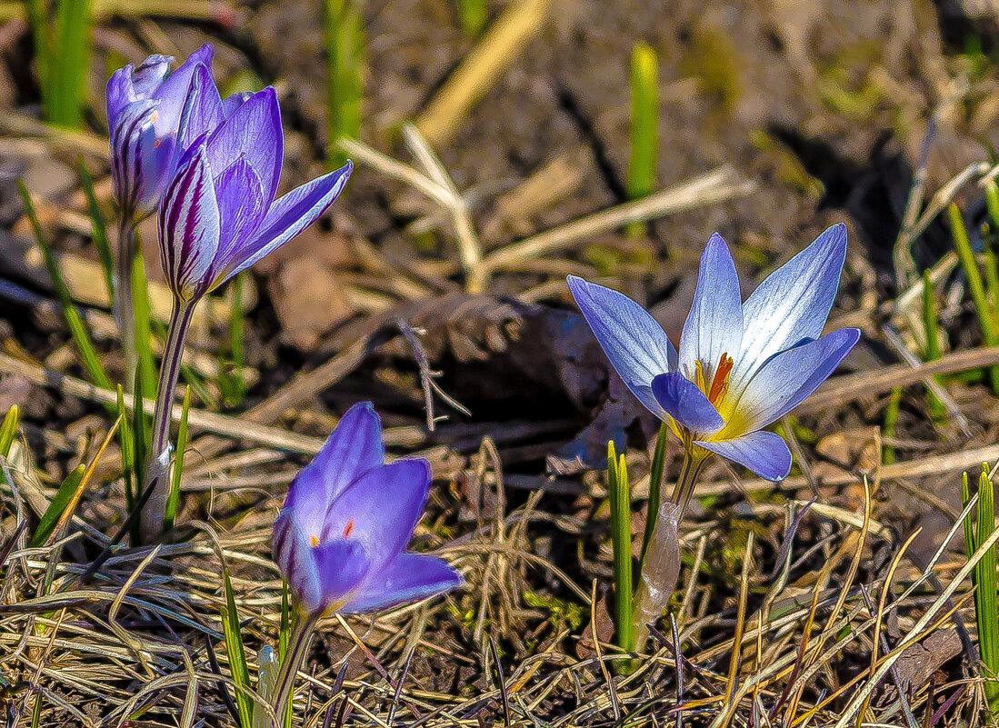
<instances>
[{"instance_id":1,"label":"upright middle petal behind orange stigma of the wide-open crocus","mask_svg":"<svg viewBox=\"0 0 999 728\"><path fill-rule=\"evenodd\" d=\"M680 368L696 376L700 362L710 383L722 355L737 360L742 348L742 295L735 262L728 246L715 233L700 256L697 290L680 335Z\"/></svg>"}]
</instances>

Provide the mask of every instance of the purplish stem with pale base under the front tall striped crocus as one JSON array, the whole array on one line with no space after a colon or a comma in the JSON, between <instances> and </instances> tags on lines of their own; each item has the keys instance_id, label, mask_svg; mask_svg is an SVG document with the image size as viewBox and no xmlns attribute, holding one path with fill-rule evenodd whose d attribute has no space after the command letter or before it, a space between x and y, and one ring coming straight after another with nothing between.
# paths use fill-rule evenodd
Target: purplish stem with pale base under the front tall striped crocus
<instances>
[{"instance_id":1,"label":"purplish stem with pale base under the front tall striped crocus","mask_svg":"<svg viewBox=\"0 0 999 728\"><path fill-rule=\"evenodd\" d=\"M140 492L150 483L153 494L142 513L143 537L149 539L157 535L163 526L167 500L170 497L170 480L166 477L170 467L170 423L174 408L174 391L181 370L181 357L184 354L184 340L191 327L194 304L174 301L170 314L170 329L167 344L163 350L163 363L160 364L160 383L156 393L156 409L153 412L153 436L149 447L149 461L143 477Z\"/></svg>"}]
</instances>

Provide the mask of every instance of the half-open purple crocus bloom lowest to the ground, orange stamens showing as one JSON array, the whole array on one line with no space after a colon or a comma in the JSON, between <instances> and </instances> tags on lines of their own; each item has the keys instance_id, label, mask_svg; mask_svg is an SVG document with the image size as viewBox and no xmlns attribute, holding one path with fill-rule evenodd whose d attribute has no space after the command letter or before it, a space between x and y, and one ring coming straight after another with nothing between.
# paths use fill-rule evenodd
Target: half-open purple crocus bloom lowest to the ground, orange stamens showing
<instances>
[{"instance_id":1,"label":"half-open purple crocus bloom lowest to the ground, orange stamens showing","mask_svg":"<svg viewBox=\"0 0 999 728\"><path fill-rule=\"evenodd\" d=\"M424 459L386 464L370 402L348 410L274 524L274 559L305 613L375 611L461 584L446 561L405 550L430 480Z\"/></svg>"}]
</instances>

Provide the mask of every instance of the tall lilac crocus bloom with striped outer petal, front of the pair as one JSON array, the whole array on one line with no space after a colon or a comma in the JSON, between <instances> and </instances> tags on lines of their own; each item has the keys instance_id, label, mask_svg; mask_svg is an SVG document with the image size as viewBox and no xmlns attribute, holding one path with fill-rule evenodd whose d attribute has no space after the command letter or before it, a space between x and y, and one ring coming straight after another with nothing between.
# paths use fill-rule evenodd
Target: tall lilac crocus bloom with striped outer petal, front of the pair
<instances>
[{"instance_id":1,"label":"tall lilac crocus bloom with striped outer petal, front of the pair","mask_svg":"<svg viewBox=\"0 0 999 728\"><path fill-rule=\"evenodd\" d=\"M163 269L184 304L305 230L353 169L348 162L275 199L284 155L277 94L268 87L240 101L229 113L208 69L195 69L177 134L183 151L160 207Z\"/></svg>"}]
</instances>

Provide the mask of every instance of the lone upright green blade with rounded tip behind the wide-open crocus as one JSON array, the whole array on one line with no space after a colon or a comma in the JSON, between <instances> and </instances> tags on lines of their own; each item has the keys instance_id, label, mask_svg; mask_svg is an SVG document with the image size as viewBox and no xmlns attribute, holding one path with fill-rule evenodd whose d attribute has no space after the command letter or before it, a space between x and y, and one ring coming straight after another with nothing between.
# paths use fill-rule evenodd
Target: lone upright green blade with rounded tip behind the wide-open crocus
<instances>
[{"instance_id":1,"label":"lone upright green blade with rounded tip behind the wide-open crocus","mask_svg":"<svg viewBox=\"0 0 999 728\"><path fill-rule=\"evenodd\" d=\"M655 188L655 160L659 123L658 59L642 41L631 51L631 161L627 171L627 196L638 200ZM632 223L627 234L640 238L643 223Z\"/></svg>"}]
</instances>

